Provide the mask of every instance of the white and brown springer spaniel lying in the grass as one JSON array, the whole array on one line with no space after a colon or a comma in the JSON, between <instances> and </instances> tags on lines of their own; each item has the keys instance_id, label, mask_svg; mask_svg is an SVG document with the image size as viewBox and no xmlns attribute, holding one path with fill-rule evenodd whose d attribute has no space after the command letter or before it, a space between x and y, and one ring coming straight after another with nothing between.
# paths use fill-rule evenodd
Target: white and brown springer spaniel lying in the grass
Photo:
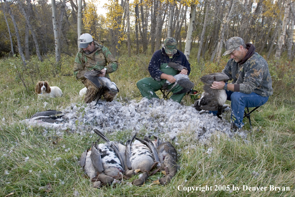
<instances>
[{"instance_id":1,"label":"white and brown springer spaniel lying in the grass","mask_svg":"<svg viewBox=\"0 0 295 197\"><path fill-rule=\"evenodd\" d=\"M63 95L62 90L57 86L50 87L47 81L38 82L35 87L35 93L39 97L56 98Z\"/></svg>"}]
</instances>

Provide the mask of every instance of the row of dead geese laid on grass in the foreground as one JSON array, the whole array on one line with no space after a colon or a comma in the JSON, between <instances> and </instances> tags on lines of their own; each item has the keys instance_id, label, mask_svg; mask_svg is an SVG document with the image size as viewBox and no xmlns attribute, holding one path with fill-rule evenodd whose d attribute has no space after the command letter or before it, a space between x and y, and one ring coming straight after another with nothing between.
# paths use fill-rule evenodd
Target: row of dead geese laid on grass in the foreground
<instances>
[{"instance_id":1,"label":"row of dead geese laid on grass in the foreground","mask_svg":"<svg viewBox=\"0 0 295 197\"><path fill-rule=\"evenodd\" d=\"M170 142L161 143L157 138L151 141L148 137L139 139L134 135L126 142L126 146L110 141L97 129L93 131L105 141L97 140L85 150L80 159L80 166L91 179L94 188L111 185L118 179L131 178L142 172L133 185L143 185L148 176L163 170L165 177L154 181L156 184L167 184L177 172L177 152ZM135 141L134 141L135 140Z\"/></svg>"}]
</instances>

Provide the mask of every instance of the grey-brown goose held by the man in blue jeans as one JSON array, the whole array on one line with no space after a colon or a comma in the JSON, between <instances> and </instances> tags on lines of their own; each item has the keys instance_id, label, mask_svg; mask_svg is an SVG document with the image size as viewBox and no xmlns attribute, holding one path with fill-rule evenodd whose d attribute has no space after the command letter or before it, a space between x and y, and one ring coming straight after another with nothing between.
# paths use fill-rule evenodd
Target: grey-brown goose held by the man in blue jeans
<instances>
[{"instance_id":1,"label":"grey-brown goose held by the man in blue jeans","mask_svg":"<svg viewBox=\"0 0 295 197\"><path fill-rule=\"evenodd\" d=\"M229 78L224 73L213 73L210 75L205 75L201 77L201 81L205 84L203 86L203 90L205 91L201 98L196 100L194 103L194 107L201 111L203 110L211 110L218 111L217 116L221 118L222 110L226 108L226 105L223 105L226 101L227 95L225 90L216 90L212 89L213 82L221 82L228 81Z\"/></svg>"}]
</instances>

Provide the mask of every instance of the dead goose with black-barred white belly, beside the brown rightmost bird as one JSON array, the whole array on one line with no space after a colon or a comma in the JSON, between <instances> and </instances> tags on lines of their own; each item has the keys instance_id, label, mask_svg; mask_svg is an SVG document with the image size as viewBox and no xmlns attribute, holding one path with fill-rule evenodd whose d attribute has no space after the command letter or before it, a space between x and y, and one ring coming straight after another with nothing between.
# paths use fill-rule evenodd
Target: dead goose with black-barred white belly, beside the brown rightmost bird
<instances>
[{"instance_id":1,"label":"dead goose with black-barred white belly, beside the brown rightmost bird","mask_svg":"<svg viewBox=\"0 0 295 197\"><path fill-rule=\"evenodd\" d=\"M154 167L154 158L147 145L135 140L136 135L126 144L126 162L130 170L140 170L143 174L139 179L132 182L133 185L141 186L148 179L149 171ZM134 143L133 143L134 141Z\"/></svg>"}]
</instances>

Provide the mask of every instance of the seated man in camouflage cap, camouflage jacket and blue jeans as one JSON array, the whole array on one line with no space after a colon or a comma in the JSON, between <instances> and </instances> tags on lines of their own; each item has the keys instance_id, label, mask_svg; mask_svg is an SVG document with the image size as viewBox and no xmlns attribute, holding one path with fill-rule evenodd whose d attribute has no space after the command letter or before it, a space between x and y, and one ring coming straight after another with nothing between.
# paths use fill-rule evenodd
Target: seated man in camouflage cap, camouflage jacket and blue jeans
<instances>
[{"instance_id":1,"label":"seated man in camouflage cap, camouflage jacket and blue jeans","mask_svg":"<svg viewBox=\"0 0 295 197\"><path fill-rule=\"evenodd\" d=\"M231 100L232 130L244 125L245 107L261 106L273 94L272 79L265 59L255 52L255 46L245 44L240 37L229 38L223 55L230 55L224 70L231 83L214 82L213 89L224 89Z\"/></svg>"}]
</instances>

